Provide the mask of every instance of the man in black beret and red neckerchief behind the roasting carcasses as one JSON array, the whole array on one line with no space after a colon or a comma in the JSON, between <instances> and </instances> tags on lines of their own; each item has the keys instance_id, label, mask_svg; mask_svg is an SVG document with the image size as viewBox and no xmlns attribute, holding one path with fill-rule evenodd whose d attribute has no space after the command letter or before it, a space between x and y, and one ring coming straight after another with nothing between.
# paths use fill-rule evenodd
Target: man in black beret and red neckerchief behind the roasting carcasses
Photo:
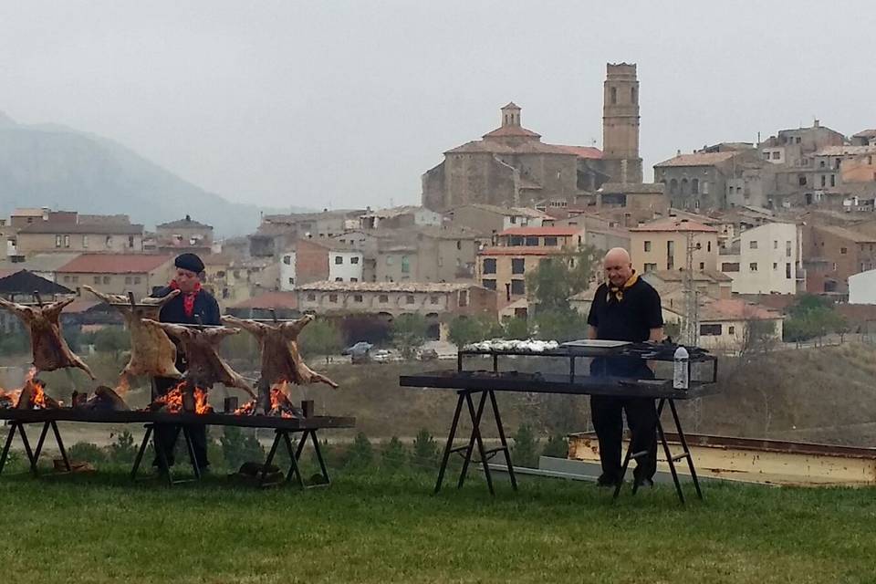
<instances>
[{"instance_id":1,"label":"man in black beret and red neckerchief behind the roasting carcasses","mask_svg":"<svg viewBox=\"0 0 876 584\"><path fill-rule=\"evenodd\" d=\"M201 258L194 254L183 254L177 256L173 265L176 266L176 275L171 280L171 283L152 294L152 296L165 297L172 290L179 290L180 294L164 305L158 319L161 322L186 325L221 325L219 304L212 294L201 287L201 278L203 277L203 261L201 261ZM176 368L181 371L184 371L186 368L183 351L177 351ZM167 377L153 378L152 401L172 390L179 382L179 380ZM179 426L157 425L155 427L156 437L162 444L162 449L170 465L173 465L173 447L176 444L179 433ZM189 428L189 433L192 436L195 460L203 470L210 464L207 460L207 428L203 424L193 424ZM155 457L152 465L161 466L158 456ZM159 470L166 471L167 469L160 468Z\"/></svg>"}]
</instances>

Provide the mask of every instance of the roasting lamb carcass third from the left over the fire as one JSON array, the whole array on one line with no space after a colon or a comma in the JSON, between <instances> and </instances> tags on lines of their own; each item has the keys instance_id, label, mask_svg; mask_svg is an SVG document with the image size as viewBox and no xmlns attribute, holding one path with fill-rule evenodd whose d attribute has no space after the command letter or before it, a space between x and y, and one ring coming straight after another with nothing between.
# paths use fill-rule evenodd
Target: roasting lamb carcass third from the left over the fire
<instances>
[{"instance_id":1,"label":"roasting lamb carcass third from the left over the fire","mask_svg":"<svg viewBox=\"0 0 876 584\"><path fill-rule=\"evenodd\" d=\"M253 388L219 356L219 343L229 335L239 331L236 328L192 328L170 322L158 322L143 318L143 322L162 328L173 339L180 342L185 354L188 369L183 378L195 387L209 390L214 383L236 387L255 398Z\"/></svg>"}]
</instances>

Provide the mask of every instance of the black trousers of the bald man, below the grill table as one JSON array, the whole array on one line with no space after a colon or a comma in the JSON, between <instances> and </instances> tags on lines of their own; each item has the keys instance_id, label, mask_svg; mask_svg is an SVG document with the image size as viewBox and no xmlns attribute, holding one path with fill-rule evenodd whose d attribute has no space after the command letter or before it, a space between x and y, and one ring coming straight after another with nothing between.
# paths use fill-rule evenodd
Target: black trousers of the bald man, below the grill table
<instances>
[{"instance_id":1,"label":"black trousers of the bald man, below the grill table","mask_svg":"<svg viewBox=\"0 0 876 584\"><path fill-rule=\"evenodd\" d=\"M636 460L633 478L636 481L651 479L657 472L657 408L653 398L590 396L590 416L600 440L602 474L609 480L620 479L623 440L621 412L627 414L627 425L632 433L632 453L648 453Z\"/></svg>"}]
</instances>

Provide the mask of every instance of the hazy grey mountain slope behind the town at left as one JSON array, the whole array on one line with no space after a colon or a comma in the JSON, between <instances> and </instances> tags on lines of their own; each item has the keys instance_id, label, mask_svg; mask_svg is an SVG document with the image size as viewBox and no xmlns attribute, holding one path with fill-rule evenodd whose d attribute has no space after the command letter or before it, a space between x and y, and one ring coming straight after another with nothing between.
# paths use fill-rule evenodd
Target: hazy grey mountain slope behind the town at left
<instances>
[{"instance_id":1,"label":"hazy grey mountain slope behind the town at left","mask_svg":"<svg viewBox=\"0 0 876 584\"><path fill-rule=\"evenodd\" d=\"M250 233L261 211L276 212L208 193L118 142L54 124L18 124L0 112L0 216L38 206L129 214L147 228L191 214L218 235Z\"/></svg>"}]
</instances>

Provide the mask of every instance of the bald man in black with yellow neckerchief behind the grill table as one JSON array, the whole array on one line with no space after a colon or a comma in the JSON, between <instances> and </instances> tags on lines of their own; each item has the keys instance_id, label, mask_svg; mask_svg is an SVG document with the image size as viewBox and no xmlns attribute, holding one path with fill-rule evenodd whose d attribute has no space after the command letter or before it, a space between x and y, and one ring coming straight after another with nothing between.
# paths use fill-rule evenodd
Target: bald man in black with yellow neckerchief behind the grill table
<instances>
[{"instance_id":1,"label":"bald man in black with yellow neckerchief behind the grill table","mask_svg":"<svg viewBox=\"0 0 876 584\"><path fill-rule=\"evenodd\" d=\"M663 339L660 295L632 269L630 254L611 249L603 260L608 282L596 290L587 318L589 339L643 342ZM590 363L593 375L652 379L646 361L636 358L599 358ZM636 460L633 479L651 485L657 471L657 410L652 398L590 396L590 414L600 441L600 485L620 481L620 451L623 437L621 411L627 414L633 453L647 452Z\"/></svg>"}]
</instances>

